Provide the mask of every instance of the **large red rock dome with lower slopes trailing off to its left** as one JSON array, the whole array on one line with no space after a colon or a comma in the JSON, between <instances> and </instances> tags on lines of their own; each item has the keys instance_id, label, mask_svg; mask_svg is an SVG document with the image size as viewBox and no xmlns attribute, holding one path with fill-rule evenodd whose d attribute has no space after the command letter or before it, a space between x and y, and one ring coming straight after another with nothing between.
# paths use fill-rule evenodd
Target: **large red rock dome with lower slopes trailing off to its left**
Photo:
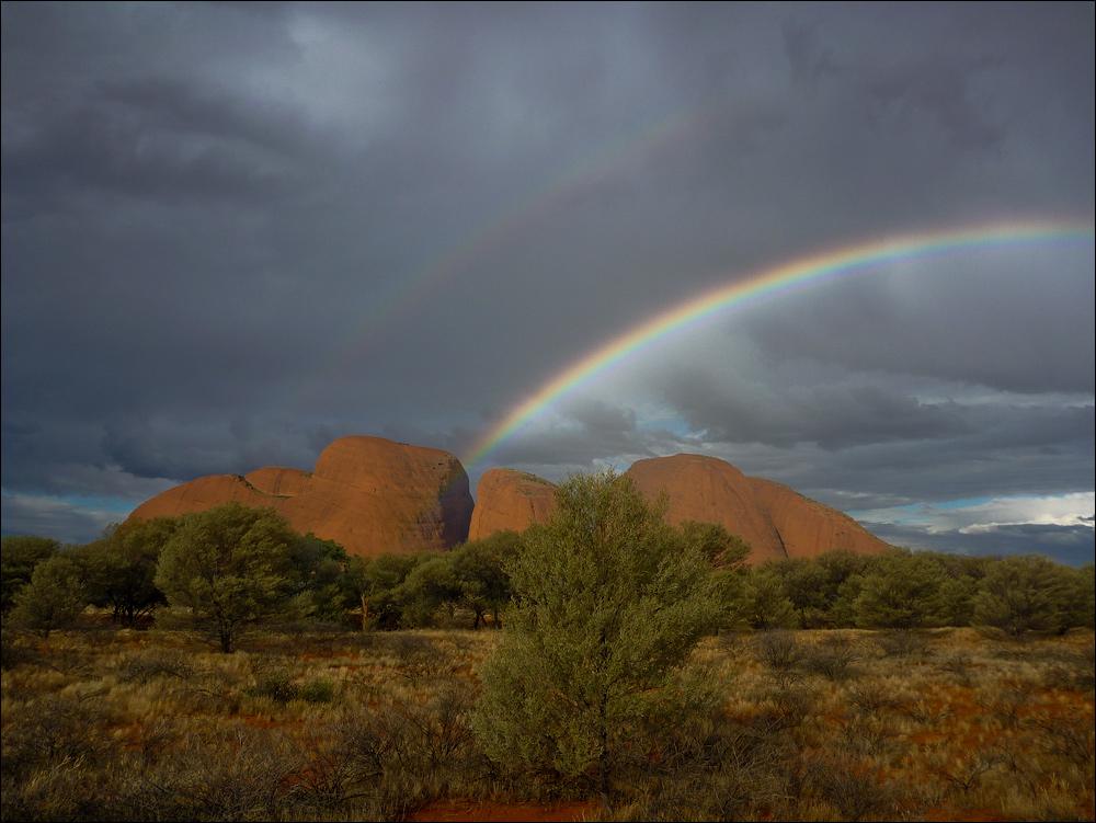
<instances>
[{"instance_id":1,"label":"large red rock dome with lower slopes trailing off to its left","mask_svg":"<svg viewBox=\"0 0 1096 823\"><path fill-rule=\"evenodd\" d=\"M381 437L342 437L311 472L266 467L176 485L139 505L129 519L175 516L237 501L271 506L309 531L364 558L384 551L442 551L468 536L468 475L448 451Z\"/></svg>"}]
</instances>

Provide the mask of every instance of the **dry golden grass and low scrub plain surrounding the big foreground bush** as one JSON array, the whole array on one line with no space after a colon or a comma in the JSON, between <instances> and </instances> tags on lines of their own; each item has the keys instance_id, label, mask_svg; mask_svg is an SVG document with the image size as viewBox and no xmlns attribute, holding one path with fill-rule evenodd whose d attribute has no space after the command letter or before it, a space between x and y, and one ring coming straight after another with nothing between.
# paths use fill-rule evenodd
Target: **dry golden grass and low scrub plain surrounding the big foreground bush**
<instances>
[{"instance_id":1,"label":"dry golden grass and low scrub plain surrounding the big foreground bush","mask_svg":"<svg viewBox=\"0 0 1096 823\"><path fill-rule=\"evenodd\" d=\"M479 750L476 668L499 637L298 629L225 655L163 630L5 631L2 819L424 820L448 801L596 799L592 782L557 785ZM607 808L563 808L1093 820L1091 631L721 635L695 662L722 707L625 752Z\"/></svg>"}]
</instances>

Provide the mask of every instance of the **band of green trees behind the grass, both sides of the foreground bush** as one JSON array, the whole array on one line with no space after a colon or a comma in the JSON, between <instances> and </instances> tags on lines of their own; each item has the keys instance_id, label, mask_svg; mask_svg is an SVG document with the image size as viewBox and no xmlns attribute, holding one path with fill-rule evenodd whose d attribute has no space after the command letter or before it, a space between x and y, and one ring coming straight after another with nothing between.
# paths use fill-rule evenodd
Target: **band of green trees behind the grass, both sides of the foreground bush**
<instances>
[{"instance_id":1,"label":"band of green trees behind the grass, both sides of the foreground bush","mask_svg":"<svg viewBox=\"0 0 1096 823\"><path fill-rule=\"evenodd\" d=\"M984 626L1018 636L1096 622L1093 563L835 548L749 567L750 547L723 527L683 528L711 559L724 629ZM95 606L130 627L185 624L222 651L259 621L499 627L521 551L521 535L500 531L443 553L363 560L298 534L273 510L228 504L117 525L85 546L4 537L0 610L7 624L48 635Z\"/></svg>"}]
</instances>

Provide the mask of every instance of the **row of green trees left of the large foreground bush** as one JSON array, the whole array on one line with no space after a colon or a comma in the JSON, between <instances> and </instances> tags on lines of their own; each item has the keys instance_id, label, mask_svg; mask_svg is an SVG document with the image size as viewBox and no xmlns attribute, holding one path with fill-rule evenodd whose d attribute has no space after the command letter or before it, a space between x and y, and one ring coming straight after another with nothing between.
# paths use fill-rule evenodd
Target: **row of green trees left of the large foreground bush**
<instances>
[{"instance_id":1,"label":"row of green trees left of the large foreground bush","mask_svg":"<svg viewBox=\"0 0 1096 823\"><path fill-rule=\"evenodd\" d=\"M203 631L225 652L247 627L270 620L420 628L460 609L471 628L499 626L513 595L504 568L520 542L502 531L445 553L363 560L334 541L298 534L273 508L229 503L125 523L85 546L4 537L0 613L43 636L89 605L110 609L127 627L159 613Z\"/></svg>"}]
</instances>

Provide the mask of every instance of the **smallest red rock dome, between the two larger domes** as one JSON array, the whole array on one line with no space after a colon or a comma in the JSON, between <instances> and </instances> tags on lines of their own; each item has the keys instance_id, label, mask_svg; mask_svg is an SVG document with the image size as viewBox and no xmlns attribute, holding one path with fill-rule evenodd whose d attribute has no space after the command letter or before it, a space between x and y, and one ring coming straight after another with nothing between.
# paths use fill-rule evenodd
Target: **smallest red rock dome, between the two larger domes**
<instances>
[{"instance_id":1,"label":"smallest red rock dome, between the two larger domes","mask_svg":"<svg viewBox=\"0 0 1096 823\"><path fill-rule=\"evenodd\" d=\"M516 469L488 469L476 484L476 508L468 539L512 529L524 531L556 511L556 484Z\"/></svg>"}]
</instances>

